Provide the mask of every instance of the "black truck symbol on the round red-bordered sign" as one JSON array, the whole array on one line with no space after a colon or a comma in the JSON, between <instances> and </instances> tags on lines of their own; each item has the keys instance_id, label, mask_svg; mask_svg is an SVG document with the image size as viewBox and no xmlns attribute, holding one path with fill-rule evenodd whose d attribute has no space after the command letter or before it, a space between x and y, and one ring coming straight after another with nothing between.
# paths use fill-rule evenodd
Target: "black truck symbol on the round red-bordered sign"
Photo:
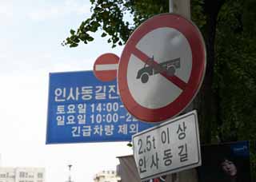
<instances>
[{"instance_id":1,"label":"black truck symbol on the round red-bordered sign","mask_svg":"<svg viewBox=\"0 0 256 182\"><path fill-rule=\"evenodd\" d=\"M167 75L173 76L176 69L181 67L180 58L175 58L169 61L164 61L160 64L155 64L154 56L149 58L144 67L138 70L137 79L141 79L142 83L146 83L150 76L158 73L166 72Z\"/></svg>"}]
</instances>

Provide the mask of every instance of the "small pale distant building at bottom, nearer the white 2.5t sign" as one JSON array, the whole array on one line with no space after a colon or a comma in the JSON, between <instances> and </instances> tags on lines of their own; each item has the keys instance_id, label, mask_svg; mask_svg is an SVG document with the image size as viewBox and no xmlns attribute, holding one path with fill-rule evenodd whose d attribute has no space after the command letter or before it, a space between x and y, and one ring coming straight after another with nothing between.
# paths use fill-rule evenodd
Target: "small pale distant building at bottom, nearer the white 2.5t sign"
<instances>
[{"instance_id":1,"label":"small pale distant building at bottom, nearer the white 2.5t sign","mask_svg":"<svg viewBox=\"0 0 256 182\"><path fill-rule=\"evenodd\" d=\"M115 171L102 171L94 176L94 182L120 182L121 178Z\"/></svg>"}]
</instances>

